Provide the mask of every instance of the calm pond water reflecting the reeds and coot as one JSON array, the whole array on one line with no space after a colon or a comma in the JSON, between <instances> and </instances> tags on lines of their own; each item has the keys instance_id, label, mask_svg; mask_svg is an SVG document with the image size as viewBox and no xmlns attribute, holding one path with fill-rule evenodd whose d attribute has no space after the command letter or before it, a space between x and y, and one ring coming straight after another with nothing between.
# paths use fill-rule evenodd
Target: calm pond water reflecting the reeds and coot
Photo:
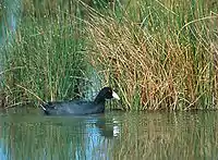
<instances>
[{"instance_id":1,"label":"calm pond water reflecting the reeds and coot","mask_svg":"<svg viewBox=\"0 0 218 160\"><path fill-rule=\"evenodd\" d=\"M0 115L1 160L218 159L218 112Z\"/></svg>"}]
</instances>

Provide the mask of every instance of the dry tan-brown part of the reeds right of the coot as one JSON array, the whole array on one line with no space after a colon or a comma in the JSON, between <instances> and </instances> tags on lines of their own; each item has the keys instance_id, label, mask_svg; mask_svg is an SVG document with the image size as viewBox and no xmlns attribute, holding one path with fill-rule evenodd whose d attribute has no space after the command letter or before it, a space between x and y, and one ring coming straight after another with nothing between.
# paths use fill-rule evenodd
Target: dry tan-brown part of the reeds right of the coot
<instances>
[{"instance_id":1,"label":"dry tan-brown part of the reeds right of the coot","mask_svg":"<svg viewBox=\"0 0 218 160\"><path fill-rule=\"evenodd\" d=\"M215 108L213 53L202 35L193 46L170 28L152 33L125 16L93 15L90 24L90 62L120 89L124 110Z\"/></svg>"}]
</instances>

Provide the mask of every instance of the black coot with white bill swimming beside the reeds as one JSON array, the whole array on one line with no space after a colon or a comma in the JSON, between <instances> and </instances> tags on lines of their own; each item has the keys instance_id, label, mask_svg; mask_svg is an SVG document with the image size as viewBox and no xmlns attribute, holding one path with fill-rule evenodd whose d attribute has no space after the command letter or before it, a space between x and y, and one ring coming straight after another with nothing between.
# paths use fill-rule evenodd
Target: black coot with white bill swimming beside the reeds
<instances>
[{"instance_id":1,"label":"black coot with white bill swimming beside the reeds","mask_svg":"<svg viewBox=\"0 0 218 160\"><path fill-rule=\"evenodd\" d=\"M46 115L97 114L105 112L106 100L112 98L120 100L120 97L111 89L111 87L104 87L94 101L49 101L41 103L40 107Z\"/></svg>"}]
</instances>

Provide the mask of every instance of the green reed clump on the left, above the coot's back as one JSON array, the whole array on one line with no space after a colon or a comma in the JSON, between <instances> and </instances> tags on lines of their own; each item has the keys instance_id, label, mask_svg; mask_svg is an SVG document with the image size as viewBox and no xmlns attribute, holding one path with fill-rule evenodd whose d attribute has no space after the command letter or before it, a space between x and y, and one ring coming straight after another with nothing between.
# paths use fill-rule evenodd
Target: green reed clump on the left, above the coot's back
<instances>
[{"instance_id":1,"label":"green reed clump on the left, above the coot's back","mask_svg":"<svg viewBox=\"0 0 218 160\"><path fill-rule=\"evenodd\" d=\"M74 4L75 7L75 4ZM3 49L7 106L76 98L84 87L83 16L80 10L24 14L13 42ZM75 19L76 16L76 19Z\"/></svg>"}]
</instances>

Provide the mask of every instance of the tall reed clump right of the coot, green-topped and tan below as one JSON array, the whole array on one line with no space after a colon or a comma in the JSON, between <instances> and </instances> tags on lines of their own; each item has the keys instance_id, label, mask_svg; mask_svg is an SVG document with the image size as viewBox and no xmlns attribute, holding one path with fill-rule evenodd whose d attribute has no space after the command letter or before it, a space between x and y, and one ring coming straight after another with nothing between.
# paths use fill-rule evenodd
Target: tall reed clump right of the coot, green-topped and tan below
<instances>
[{"instance_id":1,"label":"tall reed clump right of the coot, green-topped and tan below","mask_svg":"<svg viewBox=\"0 0 218 160\"><path fill-rule=\"evenodd\" d=\"M120 88L124 110L217 108L217 7L138 0L93 13L90 62Z\"/></svg>"}]
</instances>

